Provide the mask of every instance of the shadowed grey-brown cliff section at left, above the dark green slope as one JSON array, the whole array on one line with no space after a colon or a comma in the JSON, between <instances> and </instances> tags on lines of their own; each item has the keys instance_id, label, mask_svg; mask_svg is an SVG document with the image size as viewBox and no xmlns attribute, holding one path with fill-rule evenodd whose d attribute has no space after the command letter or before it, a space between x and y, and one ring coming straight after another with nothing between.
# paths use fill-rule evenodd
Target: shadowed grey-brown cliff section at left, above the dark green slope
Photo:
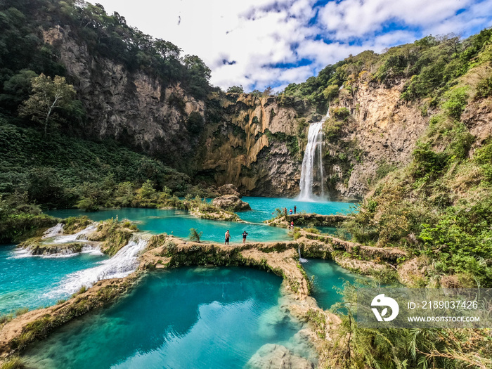
<instances>
[{"instance_id":1,"label":"shadowed grey-brown cliff section at left, above the dark green slope","mask_svg":"<svg viewBox=\"0 0 492 369\"><path fill-rule=\"evenodd\" d=\"M114 138L172 167L189 168L184 163L194 157L198 135L190 132L188 119L192 113L203 117L204 101L188 96L179 84L166 85L144 72L129 72L110 59L92 56L69 27L54 27L43 36L60 51L60 61L84 103L86 136Z\"/></svg>"}]
</instances>

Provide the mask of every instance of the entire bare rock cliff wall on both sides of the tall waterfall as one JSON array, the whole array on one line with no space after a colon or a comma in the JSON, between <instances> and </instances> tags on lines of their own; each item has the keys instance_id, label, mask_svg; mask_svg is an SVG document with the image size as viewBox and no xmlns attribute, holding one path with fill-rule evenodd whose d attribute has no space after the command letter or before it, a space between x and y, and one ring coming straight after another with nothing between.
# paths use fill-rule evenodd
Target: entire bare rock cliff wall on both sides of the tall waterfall
<instances>
[{"instance_id":1,"label":"entire bare rock cliff wall on both sides of the tall waterfall","mask_svg":"<svg viewBox=\"0 0 492 369\"><path fill-rule=\"evenodd\" d=\"M309 123L321 118L309 103L289 96L216 92L197 101L179 83L164 84L141 70L130 72L91 56L72 33L54 27L44 32L44 41L60 51L84 103L85 136L114 138L205 183L232 183L241 194L299 193ZM349 118L343 123L331 119L324 127L337 129L323 148L324 186L331 198L361 198L385 171L409 162L428 118L416 105L399 101L404 82L339 91L331 108L347 108Z\"/></svg>"}]
</instances>

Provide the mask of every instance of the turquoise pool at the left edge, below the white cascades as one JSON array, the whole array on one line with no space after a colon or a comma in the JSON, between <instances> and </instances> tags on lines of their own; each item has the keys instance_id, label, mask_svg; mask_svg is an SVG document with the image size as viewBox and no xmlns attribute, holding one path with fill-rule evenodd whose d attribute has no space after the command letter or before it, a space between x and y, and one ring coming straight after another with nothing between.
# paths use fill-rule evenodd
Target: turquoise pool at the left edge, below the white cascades
<instances>
[{"instance_id":1,"label":"turquoise pool at the left edge, below the white cascades","mask_svg":"<svg viewBox=\"0 0 492 369\"><path fill-rule=\"evenodd\" d=\"M21 307L35 309L53 305L57 299L48 292L65 277L91 268L108 257L77 254L72 257L18 257L15 245L0 246L0 313L10 313Z\"/></svg>"}]
</instances>

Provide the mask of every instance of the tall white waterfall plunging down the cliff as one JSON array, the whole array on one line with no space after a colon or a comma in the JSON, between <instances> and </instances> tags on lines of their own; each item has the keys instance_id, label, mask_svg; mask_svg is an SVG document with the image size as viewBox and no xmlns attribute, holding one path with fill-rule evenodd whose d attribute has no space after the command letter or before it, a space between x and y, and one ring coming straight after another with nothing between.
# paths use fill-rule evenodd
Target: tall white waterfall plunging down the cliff
<instances>
[{"instance_id":1,"label":"tall white waterfall plunging down the cliff","mask_svg":"<svg viewBox=\"0 0 492 369\"><path fill-rule=\"evenodd\" d=\"M324 174L323 174L323 123L330 117L330 109L325 117L320 122L311 123L309 125L308 143L304 151L301 170L301 193L298 200L313 201L316 200L313 194L313 184L315 176L318 176L318 181L321 187L321 198L325 198ZM317 162L315 162L317 161Z\"/></svg>"}]
</instances>

